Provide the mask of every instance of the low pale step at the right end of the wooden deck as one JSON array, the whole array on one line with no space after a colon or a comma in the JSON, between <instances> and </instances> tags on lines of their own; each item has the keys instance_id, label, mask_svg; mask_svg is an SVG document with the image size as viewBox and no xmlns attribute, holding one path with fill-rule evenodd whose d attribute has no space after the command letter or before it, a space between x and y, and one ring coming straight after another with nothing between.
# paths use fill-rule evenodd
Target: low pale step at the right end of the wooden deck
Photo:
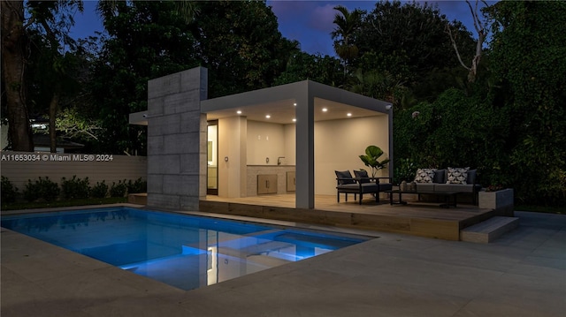
<instances>
[{"instance_id":1,"label":"low pale step at the right end of the wooden deck","mask_svg":"<svg viewBox=\"0 0 566 317\"><path fill-rule=\"evenodd\" d=\"M518 225L519 218L517 217L494 216L485 222L460 230L460 240L490 243L504 233L514 230Z\"/></svg>"}]
</instances>

